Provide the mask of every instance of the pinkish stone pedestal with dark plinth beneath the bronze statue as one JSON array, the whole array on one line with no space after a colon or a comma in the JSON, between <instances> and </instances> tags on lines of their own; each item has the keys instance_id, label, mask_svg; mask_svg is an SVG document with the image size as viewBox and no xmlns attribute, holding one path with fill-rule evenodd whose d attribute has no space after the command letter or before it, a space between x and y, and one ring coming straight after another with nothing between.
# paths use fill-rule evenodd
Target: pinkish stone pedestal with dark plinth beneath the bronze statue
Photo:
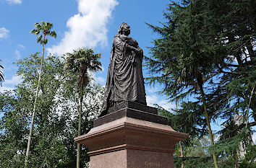
<instances>
[{"instance_id":1,"label":"pinkish stone pedestal with dark plinth beneath the bronze statue","mask_svg":"<svg viewBox=\"0 0 256 168\"><path fill-rule=\"evenodd\" d=\"M74 140L88 147L90 168L171 168L175 143L188 135L166 123L159 115L126 107L99 118Z\"/></svg>"}]
</instances>

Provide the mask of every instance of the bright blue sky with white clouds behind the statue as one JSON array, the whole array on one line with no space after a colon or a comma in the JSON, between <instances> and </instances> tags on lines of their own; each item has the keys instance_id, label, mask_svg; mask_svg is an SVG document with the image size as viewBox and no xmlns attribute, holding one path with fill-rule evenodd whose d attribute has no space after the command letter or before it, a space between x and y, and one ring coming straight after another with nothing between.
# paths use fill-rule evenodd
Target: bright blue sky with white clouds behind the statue
<instances>
[{"instance_id":1,"label":"bright blue sky with white clouds behind the statue","mask_svg":"<svg viewBox=\"0 0 256 168\"><path fill-rule=\"evenodd\" d=\"M130 25L130 36L137 40L144 55L149 56L147 47L152 46L157 35L145 22L151 25L164 22L163 11L168 3L168 0L0 0L0 59L5 77L0 92L13 89L21 81L15 76L14 61L41 52L36 36L30 34L36 22L53 23L57 33L56 39L48 39L46 53L61 55L82 46L101 53L103 71L95 74L95 79L105 85L112 39L121 22ZM145 68L143 75L148 76ZM155 93L161 87L146 85L145 88L148 105L157 103L166 110L175 107L166 97ZM218 123L212 123L213 130L220 128Z\"/></svg>"}]
</instances>

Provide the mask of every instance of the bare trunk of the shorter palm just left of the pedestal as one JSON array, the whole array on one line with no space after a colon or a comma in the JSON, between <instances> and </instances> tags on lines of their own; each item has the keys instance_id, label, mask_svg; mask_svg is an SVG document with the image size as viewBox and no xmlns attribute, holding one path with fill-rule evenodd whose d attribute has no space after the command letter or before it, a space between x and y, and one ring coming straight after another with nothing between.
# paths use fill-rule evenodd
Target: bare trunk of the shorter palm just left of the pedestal
<instances>
[{"instance_id":1,"label":"bare trunk of the shorter palm just left of the pedestal","mask_svg":"<svg viewBox=\"0 0 256 168\"><path fill-rule=\"evenodd\" d=\"M81 87L80 87L79 119L78 119L78 136L81 136L82 95L83 95L83 86L81 84ZM80 168L80 153L81 153L81 144L77 143L77 168Z\"/></svg>"}]
</instances>

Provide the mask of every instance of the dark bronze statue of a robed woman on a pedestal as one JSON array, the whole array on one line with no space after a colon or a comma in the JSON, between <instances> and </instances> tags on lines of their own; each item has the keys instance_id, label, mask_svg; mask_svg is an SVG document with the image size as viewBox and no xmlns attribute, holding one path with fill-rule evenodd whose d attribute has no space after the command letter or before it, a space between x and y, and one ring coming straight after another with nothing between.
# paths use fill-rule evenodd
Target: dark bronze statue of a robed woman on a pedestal
<instances>
[{"instance_id":1,"label":"dark bronze statue of a robed woman on a pedestal","mask_svg":"<svg viewBox=\"0 0 256 168\"><path fill-rule=\"evenodd\" d=\"M123 22L118 35L114 37L100 116L106 115L109 107L123 101L146 105L142 76L143 51L136 40L128 37L129 33L129 25Z\"/></svg>"}]
</instances>

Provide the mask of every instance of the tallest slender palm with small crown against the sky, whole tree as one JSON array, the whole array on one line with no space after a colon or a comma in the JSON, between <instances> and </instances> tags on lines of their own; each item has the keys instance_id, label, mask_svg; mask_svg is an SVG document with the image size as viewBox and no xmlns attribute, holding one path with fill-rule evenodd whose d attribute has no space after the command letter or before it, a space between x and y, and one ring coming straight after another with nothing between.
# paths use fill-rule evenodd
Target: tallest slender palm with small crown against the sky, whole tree
<instances>
[{"instance_id":1,"label":"tallest slender palm with small crown against the sky, whole tree","mask_svg":"<svg viewBox=\"0 0 256 168\"><path fill-rule=\"evenodd\" d=\"M30 134L29 134L28 141L27 141L25 167L27 167L28 156L30 153L30 143L31 143L31 137L32 137L32 133L33 133L33 125L34 125L34 120L35 120L36 102L38 100L38 91L39 91L40 80L41 80L41 76L42 76L44 45L46 45L48 42L48 39L46 38L46 36L50 35L51 37L54 37L54 38L56 38L56 36L57 36L56 32L51 31L52 27L53 27L52 23L42 21L40 23L35 23L35 29L30 31L30 33L32 33L34 35L39 35L41 33L37 37L37 43L40 43L41 45L43 45L43 52L42 52L41 63L40 63L40 73L38 76L38 86L36 87L36 92L35 92L35 101L34 101L33 115L32 115L31 125L30 125Z\"/></svg>"}]
</instances>

